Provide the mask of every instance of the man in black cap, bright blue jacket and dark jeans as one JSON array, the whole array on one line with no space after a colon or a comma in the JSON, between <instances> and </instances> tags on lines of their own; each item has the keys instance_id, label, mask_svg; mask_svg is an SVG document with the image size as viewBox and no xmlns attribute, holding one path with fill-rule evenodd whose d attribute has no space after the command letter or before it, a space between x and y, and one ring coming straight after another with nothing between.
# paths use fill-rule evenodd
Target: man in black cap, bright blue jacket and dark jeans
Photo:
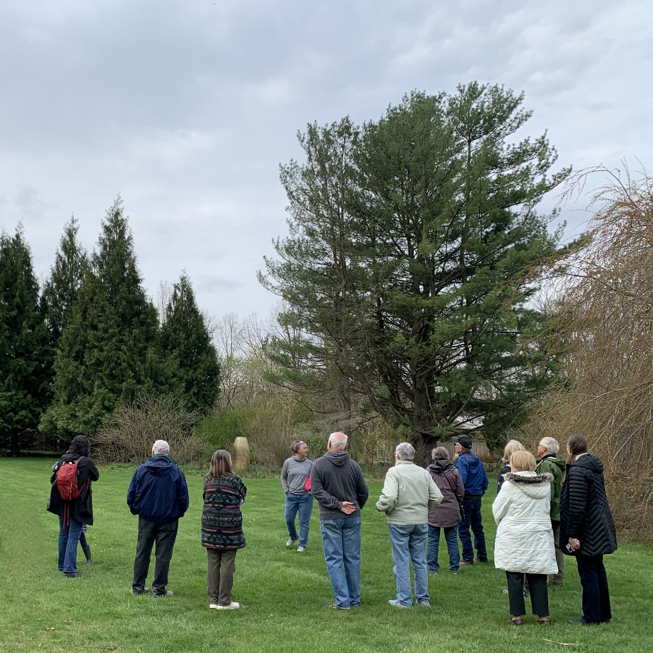
<instances>
[{"instance_id":1,"label":"man in black cap, bright blue jacket and dark jeans","mask_svg":"<svg viewBox=\"0 0 653 653\"><path fill-rule=\"evenodd\" d=\"M477 561L487 562L488 554L485 549L485 533L483 533L483 522L481 521L481 498L488 488L488 475L485 467L479 459L471 453L470 436L460 436L455 444L456 468L460 473L462 484L465 486L465 496L462 500L462 508L465 516L458 526L458 537L462 544L462 560L460 566L474 564L474 549L471 546L471 530L474 533L474 546L476 547Z\"/></svg>"}]
</instances>

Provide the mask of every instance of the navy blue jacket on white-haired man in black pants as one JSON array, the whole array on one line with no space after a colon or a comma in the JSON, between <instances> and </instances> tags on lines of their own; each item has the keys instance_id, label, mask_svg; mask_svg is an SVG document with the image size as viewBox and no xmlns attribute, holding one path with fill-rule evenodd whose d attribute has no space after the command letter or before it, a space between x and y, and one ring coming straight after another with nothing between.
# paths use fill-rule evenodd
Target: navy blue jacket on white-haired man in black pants
<instances>
[{"instance_id":1,"label":"navy blue jacket on white-haired man in black pants","mask_svg":"<svg viewBox=\"0 0 653 653\"><path fill-rule=\"evenodd\" d=\"M152 456L139 465L127 490L132 515L170 524L188 509L188 487L183 471L168 456Z\"/></svg>"}]
</instances>

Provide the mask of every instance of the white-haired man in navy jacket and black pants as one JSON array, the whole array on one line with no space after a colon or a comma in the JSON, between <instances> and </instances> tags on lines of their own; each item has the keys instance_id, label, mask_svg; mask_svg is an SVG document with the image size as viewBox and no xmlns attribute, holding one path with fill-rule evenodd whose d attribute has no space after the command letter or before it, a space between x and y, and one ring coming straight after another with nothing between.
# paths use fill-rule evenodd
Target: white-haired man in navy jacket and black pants
<instances>
[{"instance_id":1,"label":"white-haired man in navy jacket and black pants","mask_svg":"<svg viewBox=\"0 0 653 653\"><path fill-rule=\"evenodd\" d=\"M156 542L152 592L155 597L172 596L172 591L165 586L179 518L188 509L188 487L183 471L169 454L170 445L165 440L157 440L152 445L151 458L136 468L127 490L127 505L132 515L138 515L138 543L131 586L131 593L135 595L150 591L145 581L152 545Z\"/></svg>"}]
</instances>

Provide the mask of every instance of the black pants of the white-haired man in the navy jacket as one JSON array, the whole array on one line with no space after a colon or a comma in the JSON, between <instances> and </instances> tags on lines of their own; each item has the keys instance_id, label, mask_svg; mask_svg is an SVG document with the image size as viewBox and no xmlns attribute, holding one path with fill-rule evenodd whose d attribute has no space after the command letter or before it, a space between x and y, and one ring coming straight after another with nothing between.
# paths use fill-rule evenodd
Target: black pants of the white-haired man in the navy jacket
<instances>
[{"instance_id":1,"label":"black pants of the white-haired man in the navy jacket","mask_svg":"<svg viewBox=\"0 0 653 653\"><path fill-rule=\"evenodd\" d=\"M156 542L157 548L154 555L157 562L154 567L154 580L152 581L152 592L155 596L165 594L165 586L168 584L168 569L172 558L172 548L177 537L179 520L170 524L159 524L148 522L142 517L138 518L138 543L136 543L136 560L134 560L134 582L131 584L136 592L145 589L145 581L150 569L150 555L152 545Z\"/></svg>"}]
</instances>

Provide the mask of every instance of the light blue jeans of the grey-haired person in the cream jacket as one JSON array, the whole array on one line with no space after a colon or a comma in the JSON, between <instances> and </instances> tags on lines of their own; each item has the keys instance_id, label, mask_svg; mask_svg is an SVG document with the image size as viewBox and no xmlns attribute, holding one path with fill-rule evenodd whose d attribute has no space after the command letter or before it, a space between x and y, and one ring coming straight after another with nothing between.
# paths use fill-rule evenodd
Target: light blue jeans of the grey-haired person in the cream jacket
<instances>
[{"instance_id":1,"label":"light blue jeans of the grey-haired person in the cream jacket","mask_svg":"<svg viewBox=\"0 0 653 653\"><path fill-rule=\"evenodd\" d=\"M394 580L397 583L397 599L402 605L413 605L413 589L410 584L410 564L415 573L415 597L428 601L428 572L426 571L426 534L428 524L388 524Z\"/></svg>"}]
</instances>

